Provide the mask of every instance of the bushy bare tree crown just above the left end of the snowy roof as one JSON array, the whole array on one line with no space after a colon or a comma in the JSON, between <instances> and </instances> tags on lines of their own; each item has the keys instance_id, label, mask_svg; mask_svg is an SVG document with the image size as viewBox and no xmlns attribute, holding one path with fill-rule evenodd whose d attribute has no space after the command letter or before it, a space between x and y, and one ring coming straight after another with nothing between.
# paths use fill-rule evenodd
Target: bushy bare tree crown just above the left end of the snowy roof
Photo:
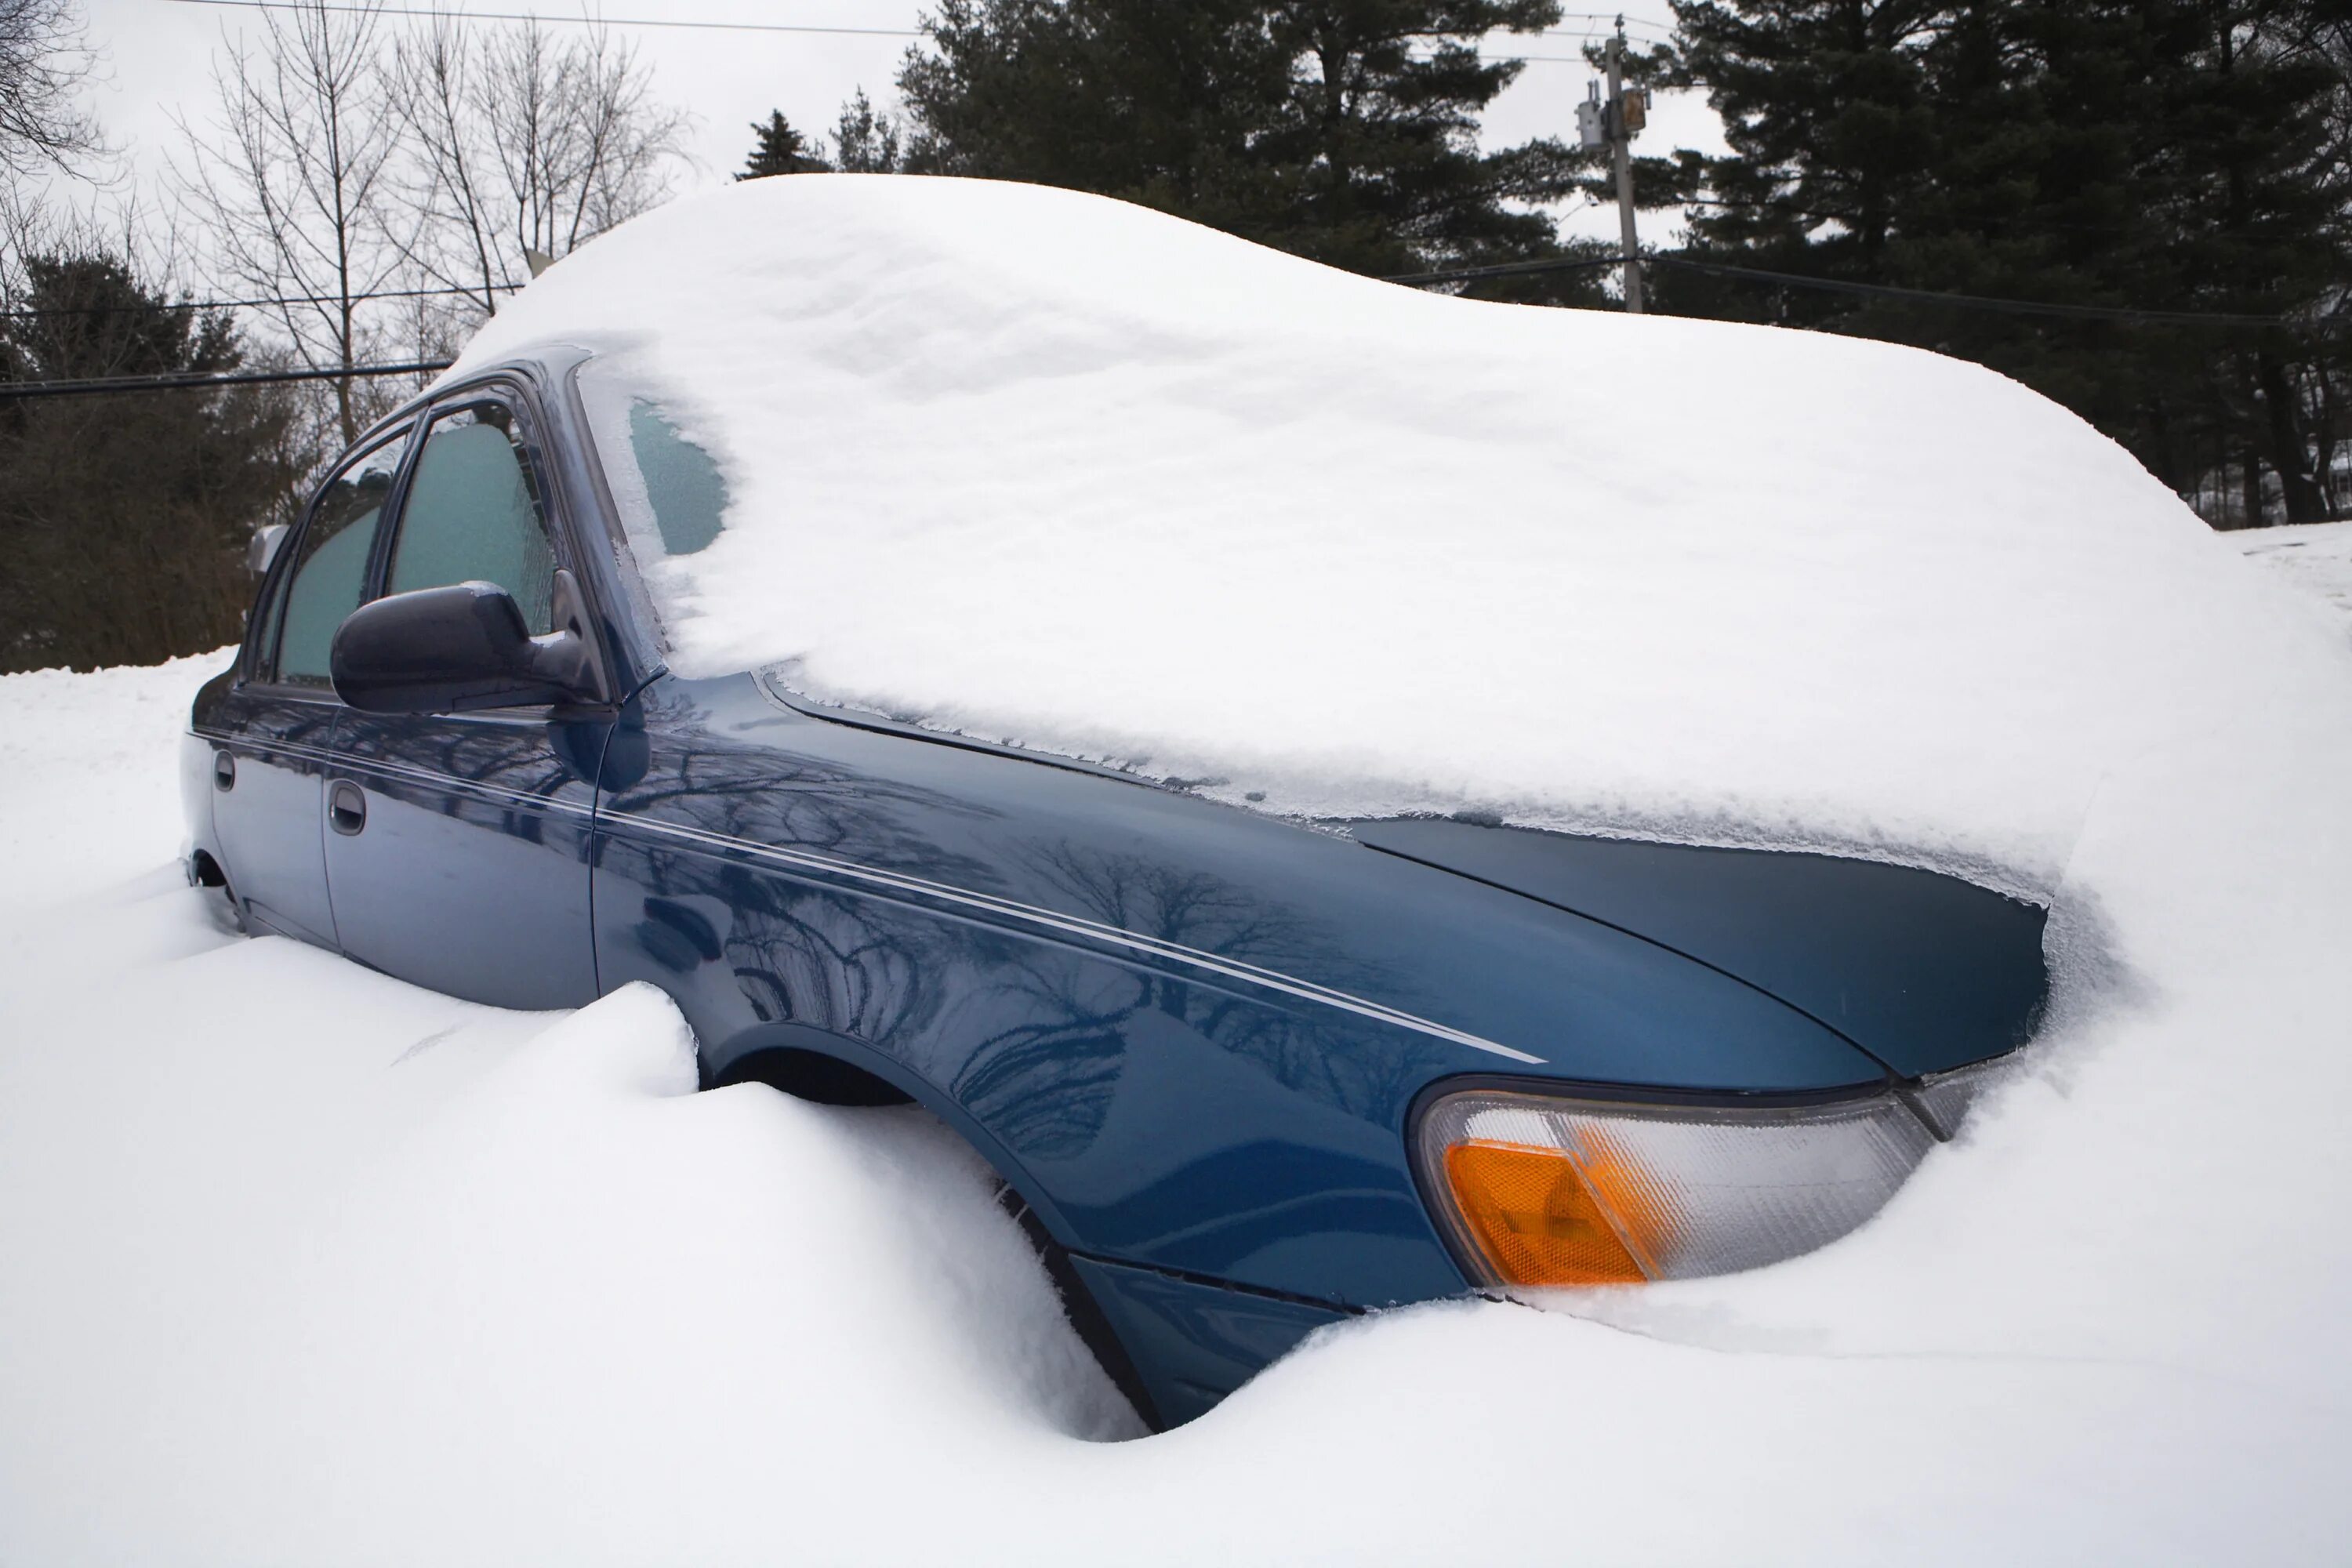
<instances>
[{"instance_id":1,"label":"bushy bare tree crown just above the left end of the snowy roof","mask_svg":"<svg viewBox=\"0 0 2352 1568\"><path fill-rule=\"evenodd\" d=\"M532 275L656 207L684 160L687 115L604 28L557 40L541 24L468 31L442 16L400 42L395 103L421 216L409 256L482 310Z\"/></svg>"}]
</instances>

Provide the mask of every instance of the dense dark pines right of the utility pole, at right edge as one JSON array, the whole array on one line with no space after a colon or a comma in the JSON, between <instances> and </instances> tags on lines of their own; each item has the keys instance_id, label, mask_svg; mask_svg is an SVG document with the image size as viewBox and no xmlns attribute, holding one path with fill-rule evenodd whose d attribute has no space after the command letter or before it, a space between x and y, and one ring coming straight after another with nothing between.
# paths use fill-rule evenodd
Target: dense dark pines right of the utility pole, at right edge
<instances>
[{"instance_id":1,"label":"dense dark pines right of the utility pole, at right edge","mask_svg":"<svg viewBox=\"0 0 2352 1568\"><path fill-rule=\"evenodd\" d=\"M2326 2L1677 0L1661 75L1708 89L1731 155L1684 155L1670 195L1696 197L1693 254L1755 268L2143 313L2338 310L2352 186L2331 150L2347 78L2314 45ZM2286 520L2331 505L2340 336L1661 282L1668 310L2002 369L2183 494L2211 498L2234 465L2241 517L2265 515L2265 470Z\"/></svg>"}]
</instances>

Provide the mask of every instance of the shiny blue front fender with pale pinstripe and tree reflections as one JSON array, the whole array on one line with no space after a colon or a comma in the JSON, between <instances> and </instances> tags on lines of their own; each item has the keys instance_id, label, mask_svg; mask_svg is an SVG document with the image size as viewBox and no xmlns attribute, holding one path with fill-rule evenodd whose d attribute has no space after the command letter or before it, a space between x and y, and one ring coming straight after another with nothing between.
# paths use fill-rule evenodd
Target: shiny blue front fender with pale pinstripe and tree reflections
<instances>
[{"instance_id":1,"label":"shiny blue front fender with pale pinstripe and tree reflections","mask_svg":"<svg viewBox=\"0 0 2352 1568\"><path fill-rule=\"evenodd\" d=\"M783 1023L882 1053L1096 1258L1345 1305L1449 1295L1406 1159L1435 1079L1884 1079L1755 990L1529 898L811 719L753 679L656 682L604 785L607 990L677 997L713 1077Z\"/></svg>"}]
</instances>

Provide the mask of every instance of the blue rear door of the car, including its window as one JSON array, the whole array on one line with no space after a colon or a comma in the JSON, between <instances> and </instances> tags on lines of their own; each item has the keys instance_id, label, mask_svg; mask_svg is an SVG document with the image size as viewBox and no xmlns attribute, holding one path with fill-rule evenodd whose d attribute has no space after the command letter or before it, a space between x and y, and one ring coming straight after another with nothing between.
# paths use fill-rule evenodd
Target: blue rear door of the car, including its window
<instances>
[{"instance_id":1,"label":"blue rear door of the car, including its window","mask_svg":"<svg viewBox=\"0 0 2352 1568\"><path fill-rule=\"evenodd\" d=\"M412 425L367 442L320 487L280 550L238 682L209 715L212 820L245 919L336 945L322 846L325 771L341 703L327 646L358 609Z\"/></svg>"}]
</instances>

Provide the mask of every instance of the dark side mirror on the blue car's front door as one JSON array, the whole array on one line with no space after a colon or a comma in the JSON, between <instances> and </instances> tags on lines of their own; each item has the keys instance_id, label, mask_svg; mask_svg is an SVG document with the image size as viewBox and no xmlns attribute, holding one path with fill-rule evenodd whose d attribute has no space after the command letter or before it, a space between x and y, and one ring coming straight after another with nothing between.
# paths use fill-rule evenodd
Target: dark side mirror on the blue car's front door
<instances>
[{"instance_id":1,"label":"dark side mirror on the blue car's front door","mask_svg":"<svg viewBox=\"0 0 2352 1568\"><path fill-rule=\"evenodd\" d=\"M532 637L496 583L419 588L362 604L334 630L334 693L360 712L473 712L607 698L581 635L569 571L557 574L560 630Z\"/></svg>"}]
</instances>

